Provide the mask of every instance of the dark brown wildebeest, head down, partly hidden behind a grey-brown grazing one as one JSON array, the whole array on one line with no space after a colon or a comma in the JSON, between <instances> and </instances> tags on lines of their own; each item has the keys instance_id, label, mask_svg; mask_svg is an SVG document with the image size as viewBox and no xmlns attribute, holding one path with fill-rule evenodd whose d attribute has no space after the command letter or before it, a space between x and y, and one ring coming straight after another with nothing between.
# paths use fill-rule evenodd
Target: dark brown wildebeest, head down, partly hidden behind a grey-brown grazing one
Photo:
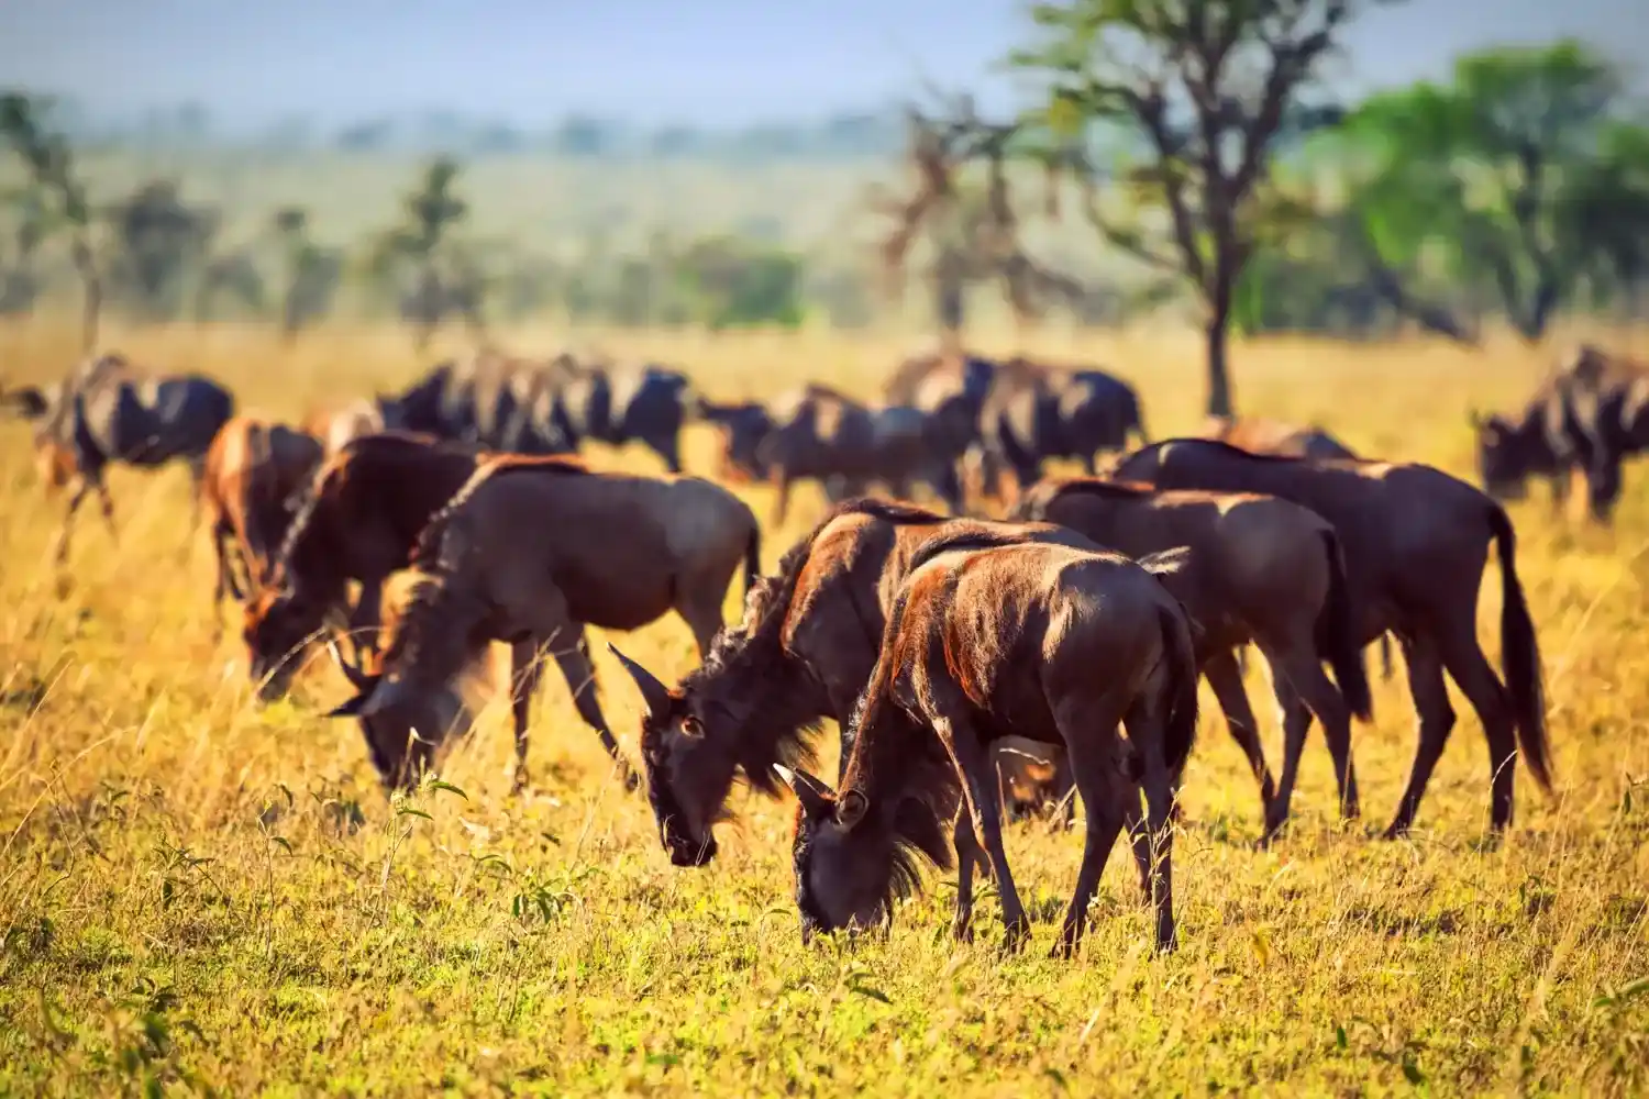
<instances>
[{"instance_id":1,"label":"dark brown wildebeest, head down, partly hidden behind a grey-brown grazing one","mask_svg":"<svg viewBox=\"0 0 1649 1099\"><path fill-rule=\"evenodd\" d=\"M384 580L411 564L419 532L483 460L465 443L383 432L345 443L322 465L275 555L272 582L246 606L247 667L261 700L287 692L328 618L348 611L351 636L371 648ZM350 582L361 588L353 610Z\"/></svg>"}]
</instances>

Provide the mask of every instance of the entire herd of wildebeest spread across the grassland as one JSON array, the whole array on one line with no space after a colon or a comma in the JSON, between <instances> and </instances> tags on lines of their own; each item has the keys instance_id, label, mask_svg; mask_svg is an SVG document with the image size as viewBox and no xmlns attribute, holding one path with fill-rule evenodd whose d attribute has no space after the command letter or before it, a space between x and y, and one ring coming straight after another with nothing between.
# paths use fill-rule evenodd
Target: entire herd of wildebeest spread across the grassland
<instances>
[{"instance_id":1,"label":"entire herd of wildebeest spread across the grassland","mask_svg":"<svg viewBox=\"0 0 1649 1099\"><path fill-rule=\"evenodd\" d=\"M673 369L496 351L302 425L237 415L208 377L114 354L3 402L33 423L41 479L68 498L59 565L89 494L115 531L109 463L188 465L216 550L216 621L224 595L244 603L257 697L287 694L323 644L355 690L331 715L359 723L386 786L416 784L470 730L463 687L503 643L516 788L549 656L635 789L584 629L674 610L701 657L674 687L613 648L645 704L646 796L674 865L716 857L735 779L773 796L783 783L800 802L803 934L889 919L920 855L955 860L958 936L975 865L989 873L1016 946L1029 921L1003 852L1004 801L1045 796L1069 824L1073 791L1085 845L1057 947L1069 954L1123 830L1156 944L1176 939L1169 825L1199 679L1253 769L1261 842L1288 821L1313 720L1341 812L1359 814L1364 654L1392 636L1420 732L1388 837L1410 829L1454 725L1445 674L1489 741L1491 830L1512 821L1517 755L1550 791L1540 652L1501 501L1542 476L1562 504L1583 476L1608 522L1621 461L1649 447L1646 395L1649 367L1580 346L1519 414L1473 414L1484 489L1266 420L1151 442L1135 390L1110 374L958 351L899 364L879 405L821 384L717 404ZM714 479L681 470L693 420L721 438ZM592 468L576 456L587 440L643 443L669 473ZM1087 476L1044 476L1049 458ZM717 479L773 484L775 522L798 479L831 507L762 575L760 524ZM918 484L950 514L907 503ZM1476 629L1491 549L1502 674ZM726 624L740 570L744 616ZM1280 779L1243 687L1247 646L1271 671ZM823 718L841 730L834 789L803 769Z\"/></svg>"}]
</instances>

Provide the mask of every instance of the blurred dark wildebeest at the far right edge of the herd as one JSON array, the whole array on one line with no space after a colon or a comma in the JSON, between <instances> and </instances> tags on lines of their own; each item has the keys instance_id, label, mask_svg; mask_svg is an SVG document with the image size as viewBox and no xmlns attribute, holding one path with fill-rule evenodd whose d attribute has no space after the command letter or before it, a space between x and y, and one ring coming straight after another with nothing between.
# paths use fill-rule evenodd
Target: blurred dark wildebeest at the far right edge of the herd
<instances>
[{"instance_id":1,"label":"blurred dark wildebeest at the far right edge of the herd","mask_svg":"<svg viewBox=\"0 0 1649 1099\"><path fill-rule=\"evenodd\" d=\"M1471 423L1478 473L1491 496L1522 499L1527 479L1542 476L1562 511L1580 471L1591 517L1606 524L1621 494L1621 461L1649 448L1649 366L1581 344L1520 414L1473 412Z\"/></svg>"}]
</instances>

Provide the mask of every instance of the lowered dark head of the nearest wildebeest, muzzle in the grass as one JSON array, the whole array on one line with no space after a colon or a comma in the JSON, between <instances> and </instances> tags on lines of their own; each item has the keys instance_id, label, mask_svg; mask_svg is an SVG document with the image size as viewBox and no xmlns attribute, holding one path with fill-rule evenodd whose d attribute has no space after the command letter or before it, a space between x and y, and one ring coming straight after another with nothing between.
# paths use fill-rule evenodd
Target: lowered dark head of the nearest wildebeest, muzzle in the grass
<instances>
[{"instance_id":1,"label":"lowered dark head of the nearest wildebeest, muzzle in the grass","mask_svg":"<svg viewBox=\"0 0 1649 1099\"><path fill-rule=\"evenodd\" d=\"M778 773L801 802L792 837L801 938L886 921L895 844L869 799L857 789L838 796L806 771Z\"/></svg>"}]
</instances>

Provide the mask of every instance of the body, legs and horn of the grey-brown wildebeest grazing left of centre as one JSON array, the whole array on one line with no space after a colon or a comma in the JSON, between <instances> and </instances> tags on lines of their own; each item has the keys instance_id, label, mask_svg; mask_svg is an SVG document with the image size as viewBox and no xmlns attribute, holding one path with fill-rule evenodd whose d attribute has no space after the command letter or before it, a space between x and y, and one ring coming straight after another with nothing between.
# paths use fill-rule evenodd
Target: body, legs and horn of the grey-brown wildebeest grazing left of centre
<instances>
[{"instance_id":1,"label":"body, legs and horn of the grey-brown wildebeest grazing left of centre","mask_svg":"<svg viewBox=\"0 0 1649 1099\"><path fill-rule=\"evenodd\" d=\"M383 674L343 713L425 704L478 646L511 643L514 786L526 784L528 707L551 649L579 717L620 765L594 690L584 628L640 629L674 610L701 656L740 564L760 572L760 531L727 489L693 476L592 473L571 463L488 463L430 519L416 555L427 578L386 634ZM625 768L627 783L633 773Z\"/></svg>"}]
</instances>

